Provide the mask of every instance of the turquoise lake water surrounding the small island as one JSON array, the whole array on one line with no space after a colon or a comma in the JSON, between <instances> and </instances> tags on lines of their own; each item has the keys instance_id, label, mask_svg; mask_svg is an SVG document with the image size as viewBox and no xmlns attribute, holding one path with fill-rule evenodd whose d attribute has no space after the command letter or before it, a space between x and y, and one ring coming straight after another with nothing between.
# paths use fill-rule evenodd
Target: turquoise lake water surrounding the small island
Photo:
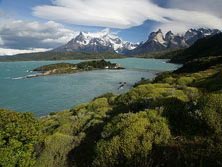
<instances>
[{"instance_id":1,"label":"turquoise lake water surrounding the small island","mask_svg":"<svg viewBox=\"0 0 222 167\"><path fill-rule=\"evenodd\" d=\"M36 67L59 61L2 62L0 63L0 108L19 112L28 111L43 116L88 102L107 92L123 93L142 77L152 79L157 72L178 68L178 65L166 63L166 60L127 58L110 61L119 63L126 69L21 79L20 77L32 74L30 71ZM122 90L118 90L119 82L127 83Z\"/></svg>"}]
</instances>

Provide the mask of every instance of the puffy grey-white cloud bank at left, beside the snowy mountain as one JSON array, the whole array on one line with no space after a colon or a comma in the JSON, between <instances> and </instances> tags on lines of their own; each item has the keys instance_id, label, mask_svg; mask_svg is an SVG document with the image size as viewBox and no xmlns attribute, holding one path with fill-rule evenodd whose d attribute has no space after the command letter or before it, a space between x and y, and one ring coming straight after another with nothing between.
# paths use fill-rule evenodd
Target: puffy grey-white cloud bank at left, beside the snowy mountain
<instances>
[{"instance_id":1,"label":"puffy grey-white cloud bank at left, beside the snowy mountain","mask_svg":"<svg viewBox=\"0 0 222 167\"><path fill-rule=\"evenodd\" d=\"M0 45L3 48L24 49L54 48L60 46L78 32L65 28L54 21L40 23L5 19L0 24Z\"/></svg>"}]
</instances>

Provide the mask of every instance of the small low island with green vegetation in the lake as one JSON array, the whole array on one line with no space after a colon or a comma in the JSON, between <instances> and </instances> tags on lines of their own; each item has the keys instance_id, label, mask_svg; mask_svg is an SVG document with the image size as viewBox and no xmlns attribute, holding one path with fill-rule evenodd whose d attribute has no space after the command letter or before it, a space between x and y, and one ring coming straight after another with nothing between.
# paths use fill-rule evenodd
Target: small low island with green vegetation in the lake
<instances>
[{"instance_id":1,"label":"small low island with green vegetation in the lake","mask_svg":"<svg viewBox=\"0 0 222 167\"><path fill-rule=\"evenodd\" d=\"M102 69L119 70L124 68L121 67L119 64L111 63L105 60L85 61L85 62L80 62L78 64L57 63L57 64L50 64L38 67L33 71L40 72L40 74L27 76L26 78L33 78L33 77L53 75L53 74L71 74L76 72L102 70Z\"/></svg>"}]
</instances>

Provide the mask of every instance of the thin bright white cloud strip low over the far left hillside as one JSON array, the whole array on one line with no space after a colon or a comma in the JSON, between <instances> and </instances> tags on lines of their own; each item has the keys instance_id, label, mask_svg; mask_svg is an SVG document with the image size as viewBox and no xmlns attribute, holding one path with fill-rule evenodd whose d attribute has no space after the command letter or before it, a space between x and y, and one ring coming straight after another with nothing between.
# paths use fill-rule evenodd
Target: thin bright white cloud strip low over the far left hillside
<instances>
[{"instance_id":1,"label":"thin bright white cloud strip low over the far left hillside","mask_svg":"<svg viewBox=\"0 0 222 167\"><path fill-rule=\"evenodd\" d=\"M51 49L45 49L45 48L33 48L33 49L6 49L6 48L0 48L0 56L12 56L16 54L21 53L37 53L37 52L46 52Z\"/></svg>"}]
</instances>

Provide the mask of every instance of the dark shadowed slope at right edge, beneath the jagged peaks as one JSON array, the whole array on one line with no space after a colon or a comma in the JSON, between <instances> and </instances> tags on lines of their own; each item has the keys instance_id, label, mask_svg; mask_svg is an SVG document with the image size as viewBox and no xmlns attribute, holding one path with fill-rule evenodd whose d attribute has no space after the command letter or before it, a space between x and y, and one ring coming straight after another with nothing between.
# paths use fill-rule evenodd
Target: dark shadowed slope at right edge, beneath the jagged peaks
<instances>
[{"instance_id":1,"label":"dark shadowed slope at right edge, beneath the jagged peaks","mask_svg":"<svg viewBox=\"0 0 222 167\"><path fill-rule=\"evenodd\" d=\"M198 40L171 62L184 64L177 72L195 72L222 63L222 33Z\"/></svg>"}]
</instances>

